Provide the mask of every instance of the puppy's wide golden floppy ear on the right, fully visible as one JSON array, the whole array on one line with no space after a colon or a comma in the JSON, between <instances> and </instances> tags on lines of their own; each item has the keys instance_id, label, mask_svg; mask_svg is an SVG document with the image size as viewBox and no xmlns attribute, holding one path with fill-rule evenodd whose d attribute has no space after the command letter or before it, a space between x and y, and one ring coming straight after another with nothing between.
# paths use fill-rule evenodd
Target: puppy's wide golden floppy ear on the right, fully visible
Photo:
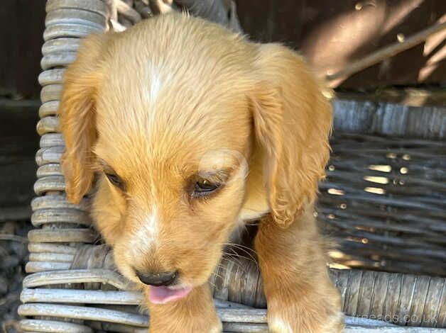
<instances>
[{"instance_id":1,"label":"puppy's wide golden floppy ear on the right, fully visible","mask_svg":"<svg viewBox=\"0 0 446 333\"><path fill-rule=\"evenodd\" d=\"M259 45L256 68L253 118L266 196L274 220L287 227L315 200L325 176L332 108L303 59L287 47Z\"/></svg>"}]
</instances>

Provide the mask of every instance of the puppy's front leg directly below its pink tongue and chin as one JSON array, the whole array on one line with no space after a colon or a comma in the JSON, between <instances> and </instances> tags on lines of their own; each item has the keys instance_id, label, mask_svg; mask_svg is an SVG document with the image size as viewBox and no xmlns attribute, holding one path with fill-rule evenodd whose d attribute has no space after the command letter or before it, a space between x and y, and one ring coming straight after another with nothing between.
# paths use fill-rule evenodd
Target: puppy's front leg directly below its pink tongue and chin
<instances>
[{"instance_id":1,"label":"puppy's front leg directly below its pink tongue and chin","mask_svg":"<svg viewBox=\"0 0 446 333\"><path fill-rule=\"evenodd\" d=\"M148 290L146 294L147 292ZM222 332L222 323L217 317L207 283L193 288L187 297L180 300L165 304L153 304L148 301L148 309L150 333Z\"/></svg>"}]
</instances>

